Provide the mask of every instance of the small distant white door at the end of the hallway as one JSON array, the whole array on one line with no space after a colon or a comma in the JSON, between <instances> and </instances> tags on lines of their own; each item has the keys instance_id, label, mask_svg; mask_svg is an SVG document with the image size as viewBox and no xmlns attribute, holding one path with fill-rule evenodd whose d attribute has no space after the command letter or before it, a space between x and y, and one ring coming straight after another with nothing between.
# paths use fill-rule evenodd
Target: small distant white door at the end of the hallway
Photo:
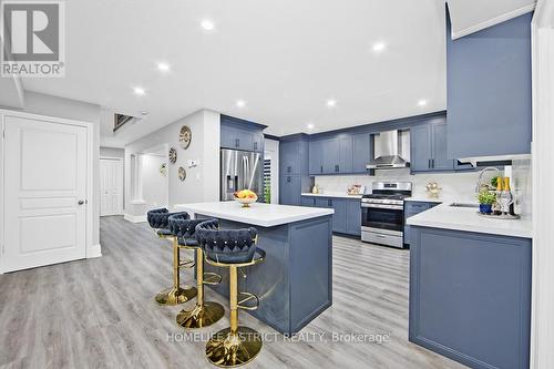
<instances>
[{"instance_id":1,"label":"small distant white door at the end of the hallway","mask_svg":"<svg viewBox=\"0 0 554 369\"><path fill-rule=\"evenodd\" d=\"M123 166L116 158L100 160L100 216L123 212Z\"/></svg>"}]
</instances>

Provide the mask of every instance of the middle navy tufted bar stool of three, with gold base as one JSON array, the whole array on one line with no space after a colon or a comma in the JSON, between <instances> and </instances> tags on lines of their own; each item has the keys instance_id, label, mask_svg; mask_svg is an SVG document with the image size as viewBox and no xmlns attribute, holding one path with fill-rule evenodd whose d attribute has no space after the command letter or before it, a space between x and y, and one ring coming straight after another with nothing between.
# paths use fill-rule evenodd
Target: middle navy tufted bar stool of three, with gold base
<instances>
[{"instance_id":1,"label":"middle navy tufted bar stool of three, with gold base","mask_svg":"<svg viewBox=\"0 0 554 369\"><path fill-rule=\"evenodd\" d=\"M189 219L188 214L170 217L170 230L177 237L181 248L193 249L196 253L196 306L192 310L183 309L177 315L177 324L183 328L208 327L223 318L225 309L220 304L204 301L204 285L217 285L222 276L215 273L204 273L204 252L195 237L196 226L204 221Z\"/></svg>"}]
</instances>

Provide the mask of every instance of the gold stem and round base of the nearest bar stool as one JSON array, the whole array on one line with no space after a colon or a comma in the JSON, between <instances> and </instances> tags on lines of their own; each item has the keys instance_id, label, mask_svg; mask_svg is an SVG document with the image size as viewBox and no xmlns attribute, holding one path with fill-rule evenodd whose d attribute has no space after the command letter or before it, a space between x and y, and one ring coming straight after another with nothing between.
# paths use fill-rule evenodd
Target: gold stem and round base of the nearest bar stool
<instances>
[{"instance_id":1,"label":"gold stem and round base of the nearest bar stool","mask_svg":"<svg viewBox=\"0 0 554 369\"><path fill-rule=\"evenodd\" d=\"M260 335L238 326L237 267L229 266L230 327L219 330L206 344L207 359L218 367L239 367L250 362L261 350Z\"/></svg>"}]
</instances>

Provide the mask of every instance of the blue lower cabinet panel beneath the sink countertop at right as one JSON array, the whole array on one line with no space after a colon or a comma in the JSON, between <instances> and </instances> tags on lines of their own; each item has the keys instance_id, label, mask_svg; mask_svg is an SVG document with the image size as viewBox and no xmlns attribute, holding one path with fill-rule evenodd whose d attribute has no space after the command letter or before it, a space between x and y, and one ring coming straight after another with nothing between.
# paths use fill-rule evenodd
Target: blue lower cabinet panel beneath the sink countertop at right
<instances>
[{"instance_id":1,"label":"blue lower cabinet panel beneath the sink countertop at right","mask_svg":"<svg viewBox=\"0 0 554 369\"><path fill-rule=\"evenodd\" d=\"M410 341L471 368L529 368L531 247L412 226Z\"/></svg>"}]
</instances>

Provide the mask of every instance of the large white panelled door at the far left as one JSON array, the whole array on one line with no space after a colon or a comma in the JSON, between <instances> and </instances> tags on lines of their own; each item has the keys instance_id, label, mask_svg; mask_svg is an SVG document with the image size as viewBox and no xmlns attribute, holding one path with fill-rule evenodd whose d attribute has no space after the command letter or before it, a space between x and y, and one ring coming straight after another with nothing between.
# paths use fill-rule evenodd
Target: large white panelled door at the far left
<instances>
[{"instance_id":1,"label":"large white panelled door at the far left","mask_svg":"<svg viewBox=\"0 0 554 369\"><path fill-rule=\"evenodd\" d=\"M4 117L3 271L86 256L86 127Z\"/></svg>"}]
</instances>

